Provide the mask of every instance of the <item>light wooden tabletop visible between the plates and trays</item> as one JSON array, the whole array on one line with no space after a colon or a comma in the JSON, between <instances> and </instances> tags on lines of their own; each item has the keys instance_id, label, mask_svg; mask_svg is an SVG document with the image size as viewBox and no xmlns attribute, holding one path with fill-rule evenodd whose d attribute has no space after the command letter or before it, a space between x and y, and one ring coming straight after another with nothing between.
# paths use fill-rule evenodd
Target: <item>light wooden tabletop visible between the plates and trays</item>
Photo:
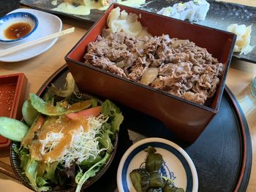
<instances>
[{"instance_id":1,"label":"light wooden tabletop visible between the plates and trays","mask_svg":"<svg viewBox=\"0 0 256 192\"><path fill-rule=\"evenodd\" d=\"M256 7L256 0L223 0L239 4L246 4ZM0 75L24 73L28 78L27 95L28 93L37 93L41 85L48 80L53 72L65 64L64 55L75 45L80 37L89 29L90 24L72 20L70 18L61 17L63 29L75 26L75 33L69 34L67 37L60 37L53 47L45 53L31 58L27 61L16 63L0 62ZM249 131L252 137L252 172L247 187L248 192L256 191L256 99L250 93L249 85L252 79L256 77L256 64L251 64L245 61L234 59L231 62L230 70L227 75L226 84L236 96L242 110L246 116L249 125ZM10 164L8 152L0 152L0 161ZM0 174L0 191L4 191L4 183L10 180L10 177ZM8 191L29 191L20 184L13 185L13 190ZM6 188L7 190L7 188Z\"/></svg>"}]
</instances>

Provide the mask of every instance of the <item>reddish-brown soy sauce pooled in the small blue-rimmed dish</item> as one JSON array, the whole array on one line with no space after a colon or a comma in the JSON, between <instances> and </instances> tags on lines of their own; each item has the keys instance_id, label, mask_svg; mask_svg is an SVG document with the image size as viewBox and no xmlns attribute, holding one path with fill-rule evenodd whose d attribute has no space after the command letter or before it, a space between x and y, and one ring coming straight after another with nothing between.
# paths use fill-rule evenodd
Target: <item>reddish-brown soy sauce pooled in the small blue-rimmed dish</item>
<instances>
[{"instance_id":1,"label":"reddish-brown soy sauce pooled in the small blue-rimmed dish","mask_svg":"<svg viewBox=\"0 0 256 192\"><path fill-rule=\"evenodd\" d=\"M14 23L4 31L4 36L7 39L19 39L26 36L31 31L29 23Z\"/></svg>"}]
</instances>

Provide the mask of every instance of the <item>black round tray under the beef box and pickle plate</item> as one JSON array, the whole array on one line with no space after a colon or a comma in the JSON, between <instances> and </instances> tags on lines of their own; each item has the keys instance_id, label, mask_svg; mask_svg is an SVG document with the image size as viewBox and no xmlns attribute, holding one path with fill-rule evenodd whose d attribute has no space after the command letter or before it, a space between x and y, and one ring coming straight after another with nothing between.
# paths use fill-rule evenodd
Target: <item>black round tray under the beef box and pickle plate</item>
<instances>
[{"instance_id":1,"label":"black round tray under the beef box and pickle plate","mask_svg":"<svg viewBox=\"0 0 256 192\"><path fill-rule=\"evenodd\" d=\"M63 86L67 72L67 65L62 66L37 94L44 94L51 83ZM116 172L122 155L133 142L146 137L169 139L187 151L197 169L198 191L246 191L252 167L252 143L244 113L227 87L219 112L193 144L176 139L159 120L116 104L124 115L116 156L108 171L86 191L117 191Z\"/></svg>"}]
</instances>

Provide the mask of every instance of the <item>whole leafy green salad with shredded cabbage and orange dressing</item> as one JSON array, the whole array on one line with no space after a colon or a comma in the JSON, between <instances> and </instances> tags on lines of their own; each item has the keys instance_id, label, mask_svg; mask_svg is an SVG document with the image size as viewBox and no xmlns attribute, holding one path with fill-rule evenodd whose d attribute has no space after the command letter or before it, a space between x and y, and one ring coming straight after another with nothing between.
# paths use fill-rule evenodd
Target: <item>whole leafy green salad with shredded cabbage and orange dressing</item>
<instances>
[{"instance_id":1,"label":"whole leafy green salad with shredded cabbage and orange dressing","mask_svg":"<svg viewBox=\"0 0 256 192\"><path fill-rule=\"evenodd\" d=\"M62 90L52 85L43 98L30 94L22 111L26 124L0 117L0 134L20 142L14 151L34 191L64 190L75 183L80 191L107 164L124 120L112 101L101 104L74 93L71 74L66 80Z\"/></svg>"}]
</instances>

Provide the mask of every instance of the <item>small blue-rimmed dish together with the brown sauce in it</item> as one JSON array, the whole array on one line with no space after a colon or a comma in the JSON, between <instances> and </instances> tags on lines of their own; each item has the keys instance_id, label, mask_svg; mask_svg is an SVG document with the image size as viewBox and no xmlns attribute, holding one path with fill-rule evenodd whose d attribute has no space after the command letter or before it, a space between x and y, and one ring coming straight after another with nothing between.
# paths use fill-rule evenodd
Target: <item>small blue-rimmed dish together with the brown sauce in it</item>
<instances>
[{"instance_id":1,"label":"small blue-rimmed dish together with the brown sauce in it","mask_svg":"<svg viewBox=\"0 0 256 192\"><path fill-rule=\"evenodd\" d=\"M20 42L38 26L38 19L29 12L14 12L0 18L0 43Z\"/></svg>"}]
</instances>

